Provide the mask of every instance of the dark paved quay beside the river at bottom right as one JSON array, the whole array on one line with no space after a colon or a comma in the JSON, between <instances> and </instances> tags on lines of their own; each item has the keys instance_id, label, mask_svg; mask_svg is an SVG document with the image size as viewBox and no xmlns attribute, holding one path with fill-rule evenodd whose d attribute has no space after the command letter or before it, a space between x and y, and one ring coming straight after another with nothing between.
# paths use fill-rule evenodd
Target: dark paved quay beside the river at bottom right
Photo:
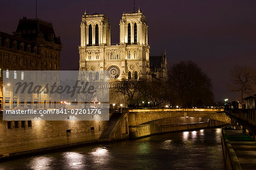
<instances>
[{"instance_id":1,"label":"dark paved quay beside the river at bottom right","mask_svg":"<svg viewBox=\"0 0 256 170\"><path fill-rule=\"evenodd\" d=\"M224 128L222 135L225 146L229 148L233 169L256 169L256 142L242 130Z\"/></svg>"}]
</instances>

